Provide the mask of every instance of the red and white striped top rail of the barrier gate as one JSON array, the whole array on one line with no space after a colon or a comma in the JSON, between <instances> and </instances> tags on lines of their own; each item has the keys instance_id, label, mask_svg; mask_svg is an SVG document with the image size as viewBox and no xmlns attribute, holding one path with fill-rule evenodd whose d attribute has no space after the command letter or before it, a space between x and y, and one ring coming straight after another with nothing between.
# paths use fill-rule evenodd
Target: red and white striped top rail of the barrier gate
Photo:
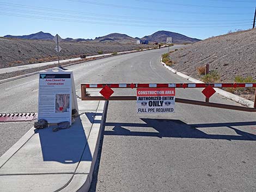
<instances>
[{"instance_id":1,"label":"red and white striped top rail of the barrier gate","mask_svg":"<svg viewBox=\"0 0 256 192\"><path fill-rule=\"evenodd\" d=\"M110 83L110 84L81 84L86 88L256 88L256 83Z\"/></svg>"}]
</instances>

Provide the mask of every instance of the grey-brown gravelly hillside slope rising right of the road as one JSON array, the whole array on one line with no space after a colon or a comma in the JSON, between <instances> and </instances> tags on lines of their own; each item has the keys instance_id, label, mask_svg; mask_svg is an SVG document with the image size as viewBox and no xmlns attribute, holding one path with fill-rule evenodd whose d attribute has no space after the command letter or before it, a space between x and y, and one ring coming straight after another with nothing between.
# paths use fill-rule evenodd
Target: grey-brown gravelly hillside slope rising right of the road
<instances>
[{"instance_id":1,"label":"grey-brown gravelly hillside slope rising right of the road","mask_svg":"<svg viewBox=\"0 0 256 192\"><path fill-rule=\"evenodd\" d=\"M222 81L234 82L236 76L256 79L256 29L199 41L170 54L172 67L199 78L196 68L210 64Z\"/></svg>"}]
</instances>

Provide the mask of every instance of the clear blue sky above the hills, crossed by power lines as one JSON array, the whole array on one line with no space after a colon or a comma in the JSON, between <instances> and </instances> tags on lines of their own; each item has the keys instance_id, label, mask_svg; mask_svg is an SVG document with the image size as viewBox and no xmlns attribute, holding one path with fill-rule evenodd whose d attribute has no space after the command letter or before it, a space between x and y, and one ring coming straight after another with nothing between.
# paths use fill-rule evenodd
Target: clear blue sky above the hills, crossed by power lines
<instances>
[{"instance_id":1,"label":"clear blue sky above the hills, crossed by power lines","mask_svg":"<svg viewBox=\"0 0 256 192\"><path fill-rule=\"evenodd\" d=\"M62 38L109 33L142 38L169 30L206 39L252 28L255 5L255 0L0 0L0 36L43 31Z\"/></svg>"}]
</instances>

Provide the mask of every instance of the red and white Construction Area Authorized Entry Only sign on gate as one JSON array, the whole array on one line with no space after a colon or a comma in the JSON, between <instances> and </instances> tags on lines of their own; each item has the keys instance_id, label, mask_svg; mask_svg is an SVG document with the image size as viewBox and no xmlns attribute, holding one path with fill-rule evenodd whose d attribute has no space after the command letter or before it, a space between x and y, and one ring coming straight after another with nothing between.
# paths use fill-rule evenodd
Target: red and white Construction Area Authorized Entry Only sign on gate
<instances>
[{"instance_id":1,"label":"red and white Construction Area Authorized Entry Only sign on gate","mask_svg":"<svg viewBox=\"0 0 256 192\"><path fill-rule=\"evenodd\" d=\"M174 113L174 88L138 88L137 113Z\"/></svg>"}]
</instances>

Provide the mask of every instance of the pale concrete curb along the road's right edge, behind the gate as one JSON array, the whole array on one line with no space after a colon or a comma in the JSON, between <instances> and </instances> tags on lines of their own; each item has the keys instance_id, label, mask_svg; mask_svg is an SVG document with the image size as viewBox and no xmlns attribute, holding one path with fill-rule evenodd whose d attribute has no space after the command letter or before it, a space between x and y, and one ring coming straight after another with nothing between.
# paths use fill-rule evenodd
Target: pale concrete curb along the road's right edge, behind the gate
<instances>
[{"instance_id":1,"label":"pale concrete curb along the road's right edge, behind the gate","mask_svg":"<svg viewBox=\"0 0 256 192\"><path fill-rule=\"evenodd\" d=\"M204 83L204 82L202 82L202 81L200 81L200 80L198 80L198 79L192 78L192 77L190 77L190 76L185 75L184 73L181 73L181 72L179 72L179 71L176 71L176 70L173 69L172 67L167 66L165 63L163 63L162 57L161 57L160 62L161 62L161 64L162 64L164 67L166 67L168 70L172 71L172 72L175 73L176 75L178 75L178 76L180 76L180 77L182 77L182 78L184 78L184 79L186 79L186 80L190 80L190 81L193 82L193 83ZM216 91L218 94L220 94L220 95L222 95L222 96L224 96L224 97L226 97L226 98L228 98L228 99L230 99L230 100L232 100L232 101L235 101L235 102L237 102L237 103L240 103L240 104L242 104L243 106L247 106L247 107L254 108L254 102L253 102L253 101L246 100L246 99L243 98L243 97L240 97L240 96L231 94L230 92L224 91L224 90L219 89L219 88L214 88L214 89L215 89L215 91Z\"/></svg>"}]
</instances>

